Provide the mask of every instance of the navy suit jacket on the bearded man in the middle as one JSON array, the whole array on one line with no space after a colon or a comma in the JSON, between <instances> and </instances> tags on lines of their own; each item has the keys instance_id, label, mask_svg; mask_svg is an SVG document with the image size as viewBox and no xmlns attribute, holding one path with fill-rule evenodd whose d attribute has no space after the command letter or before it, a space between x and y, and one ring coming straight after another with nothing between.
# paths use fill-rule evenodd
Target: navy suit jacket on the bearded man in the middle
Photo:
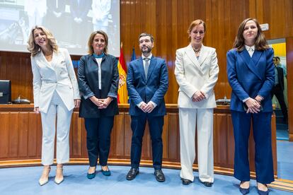
<instances>
[{"instance_id":1,"label":"navy suit jacket on the bearded man in the middle","mask_svg":"<svg viewBox=\"0 0 293 195\"><path fill-rule=\"evenodd\" d=\"M130 61L127 70L127 90L130 97L130 115L144 114L137 107L139 102L156 103L150 116L163 116L166 114L164 95L168 90L168 69L164 59L151 57L147 76L144 74L142 57Z\"/></svg>"}]
</instances>

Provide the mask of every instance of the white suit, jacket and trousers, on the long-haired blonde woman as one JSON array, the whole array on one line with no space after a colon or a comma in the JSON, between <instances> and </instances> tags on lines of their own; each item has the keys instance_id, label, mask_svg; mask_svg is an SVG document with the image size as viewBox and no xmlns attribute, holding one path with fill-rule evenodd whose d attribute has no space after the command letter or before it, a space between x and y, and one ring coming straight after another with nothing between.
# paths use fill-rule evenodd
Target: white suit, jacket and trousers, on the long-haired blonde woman
<instances>
[{"instance_id":1,"label":"white suit, jacket and trousers, on the long-haired blonde woman","mask_svg":"<svg viewBox=\"0 0 293 195\"><path fill-rule=\"evenodd\" d=\"M48 62L40 51L32 56L33 99L42 118L42 164L52 165L57 117L57 163L69 161L69 128L74 100L80 99L67 49L53 52Z\"/></svg>"}]
</instances>

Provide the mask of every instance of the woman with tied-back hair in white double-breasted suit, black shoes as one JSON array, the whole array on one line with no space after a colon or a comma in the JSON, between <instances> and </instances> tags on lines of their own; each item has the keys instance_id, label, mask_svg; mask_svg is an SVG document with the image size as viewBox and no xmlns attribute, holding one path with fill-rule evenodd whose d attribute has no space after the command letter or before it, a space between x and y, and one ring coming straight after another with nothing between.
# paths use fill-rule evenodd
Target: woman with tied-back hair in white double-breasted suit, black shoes
<instances>
[{"instance_id":1,"label":"woman with tied-back hair in white double-breasted suit, black shoes","mask_svg":"<svg viewBox=\"0 0 293 195\"><path fill-rule=\"evenodd\" d=\"M214 85L219 66L216 49L205 47L205 22L194 20L188 28L190 44L176 51L175 75L179 85L180 177L183 184L194 180L195 126L199 179L206 187L214 182L213 112Z\"/></svg>"}]
</instances>

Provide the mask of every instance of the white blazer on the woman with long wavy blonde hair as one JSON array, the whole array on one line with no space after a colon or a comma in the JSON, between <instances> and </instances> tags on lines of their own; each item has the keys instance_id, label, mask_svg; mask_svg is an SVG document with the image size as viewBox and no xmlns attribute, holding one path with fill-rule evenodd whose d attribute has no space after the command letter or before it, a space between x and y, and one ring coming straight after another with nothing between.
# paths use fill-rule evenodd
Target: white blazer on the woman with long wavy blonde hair
<instances>
[{"instance_id":1,"label":"white blazer on the woman with long wavy blonde hair","mask_svg":"<svg viewBox=\"0 0 293 195\"><path fill-rule=\"evenodd\" d=\"M53 52L48 62L42 52L31 57L33 70L33 99L40 112L47 113L56 90L68 110L74 109L74 99L80 99L79 86L67 49Z\"/></svg>"}]
</instances>

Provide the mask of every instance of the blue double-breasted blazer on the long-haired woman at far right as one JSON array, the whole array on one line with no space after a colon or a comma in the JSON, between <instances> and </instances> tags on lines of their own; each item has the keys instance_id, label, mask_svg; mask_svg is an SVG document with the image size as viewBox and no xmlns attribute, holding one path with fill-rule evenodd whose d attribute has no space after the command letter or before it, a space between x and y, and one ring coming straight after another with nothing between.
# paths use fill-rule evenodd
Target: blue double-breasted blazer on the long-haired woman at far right
<instances>
[{"instance_id":1,"label":"blue double-breasted blazer on the long-haired woman at far right","mask_svg":"<svg viewBox=\"0 0 293 195\"><path fill-rule=\"evenodd\" d=\"M264 98L263 112L272 112L270 91L275 84L273 56L272 48L264 51L255 49L252 57L245 48L241 52L231 49L227 53L226 71L232 88L231 110L244 112L243 100L260 95Z\"/></svg>"}]
</instances>

